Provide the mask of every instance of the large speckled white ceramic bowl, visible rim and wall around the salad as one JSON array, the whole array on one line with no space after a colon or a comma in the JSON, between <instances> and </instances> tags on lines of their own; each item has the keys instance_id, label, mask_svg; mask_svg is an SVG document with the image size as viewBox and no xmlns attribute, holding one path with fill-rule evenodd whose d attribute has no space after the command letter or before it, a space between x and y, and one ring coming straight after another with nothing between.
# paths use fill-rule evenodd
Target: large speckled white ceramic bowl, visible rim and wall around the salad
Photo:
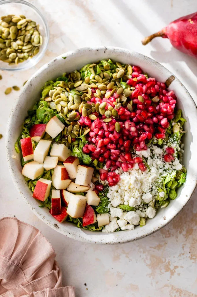
<instances>
[{"instance_id":1,"label":"large speckled white ceramic bowl, visible rim and wall around the salad","mask_svg":"<svg viewBox=\"0 0 197 297\"><path fill-rule=\"evenodd\" d=\"M62 56L66 56L67 58L64 60L62 59ZM80 69L80 67L87 63L108 58L114 61L120 61L124 64L138 65L147 72L149 76L155 77L161 82L165 82L170 78L168 82L172 81L172 83L169 85L168 89L175 91L178 98L178 107L183 110L183 116L187 120L185 124L187 133L184 136L185 153L183 157L183 164L187 168L187 179L185 185L178 190L178 197L175 200L170 201L167 208L159 209L156 216L153 219L148 219L143 228L138 226L134 230L118 231L114 233L91 232L77 228L70 222L60 224L51 217L47 208L39 208L39 203L32 198L32 192L28 189L27 184L21 175L21 156L19 154L17 155L14 150L14 143L20 135L21 125L27 116L27 110L40 98L40 89L47 80L54 79L62 75L63 72ZM9 170L20 195L25 199L33 212L51 228L70 238L85 242L115 244L133 241L147 236L165 226L189 201L196 187L197 180L196 127L197 111L193 99L182 83L161 64L142 54L130 52L123 48L81 48L64 53L48 64L45 64L28 80L22 89L12 108L7 127L6 149ZM11 156L13 154L17 155L16 159L12 159Z\"/></svg>"}]
</instances>

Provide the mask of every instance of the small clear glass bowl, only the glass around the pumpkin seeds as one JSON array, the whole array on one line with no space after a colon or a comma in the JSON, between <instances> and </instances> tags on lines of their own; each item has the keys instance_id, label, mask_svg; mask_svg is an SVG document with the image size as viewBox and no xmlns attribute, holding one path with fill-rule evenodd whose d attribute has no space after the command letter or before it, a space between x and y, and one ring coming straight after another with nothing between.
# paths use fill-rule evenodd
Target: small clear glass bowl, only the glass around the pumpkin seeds
<instances>
[{"instance_id":1,"label":"small clear glass bowl, only the glass around the pumpkin seeds","mask_svg":"<svg viewBox=\"0 0 197 297\"><path fill-rule=\"evenodd\" d=\"M33 4L24 0L1 0L0 14L0 17L10 14L14 14L16 16L25 15L26 18L35 21L36 24L39 25L39 31L43 37L43 44L40 46L39 52L31 59L19 63L18 65L9 65L7 62L0 60L0 69L7 71L17 71L33 67L43 57L49 42L49 26L45 17Z\"/></svg>"}]
</instances>

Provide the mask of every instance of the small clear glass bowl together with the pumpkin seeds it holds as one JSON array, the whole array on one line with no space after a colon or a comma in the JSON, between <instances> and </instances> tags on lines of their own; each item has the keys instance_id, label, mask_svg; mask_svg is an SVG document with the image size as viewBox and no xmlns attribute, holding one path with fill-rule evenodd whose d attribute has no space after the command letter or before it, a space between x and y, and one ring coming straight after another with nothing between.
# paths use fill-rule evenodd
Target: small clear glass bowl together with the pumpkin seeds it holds
<instances>
[{"instance_id":1,"label":"small clear glass bowl together with the pumpkin seeds it holds","mask_svg":"<svg viewBox=\"0 0 197 297\"><path fill-rule=\"evenodd\" d=\"M49 28L41 10L25 0L2 0L0 12L0 69L33 67L49 42Z\"/></svg>"}]
</instances>

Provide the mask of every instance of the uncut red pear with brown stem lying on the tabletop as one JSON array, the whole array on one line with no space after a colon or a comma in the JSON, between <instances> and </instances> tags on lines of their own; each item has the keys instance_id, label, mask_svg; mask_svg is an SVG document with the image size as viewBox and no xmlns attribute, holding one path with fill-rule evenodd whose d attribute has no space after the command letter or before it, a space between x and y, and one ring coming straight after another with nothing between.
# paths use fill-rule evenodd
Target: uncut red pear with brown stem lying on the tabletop
<instances>
[{"instance_id":1,"label":"uncut red pear with brown stem lying on the tabletop","mask_svg":"<svg viewBox=\"0 0 197 297\"><path fill-rule=\"evenodd\" d=\"M174 20L161 31L146 37L142 44L146 45L155 37L168 38L177 50L197 58L197 12Z\"/></svg>"}]
</instances>

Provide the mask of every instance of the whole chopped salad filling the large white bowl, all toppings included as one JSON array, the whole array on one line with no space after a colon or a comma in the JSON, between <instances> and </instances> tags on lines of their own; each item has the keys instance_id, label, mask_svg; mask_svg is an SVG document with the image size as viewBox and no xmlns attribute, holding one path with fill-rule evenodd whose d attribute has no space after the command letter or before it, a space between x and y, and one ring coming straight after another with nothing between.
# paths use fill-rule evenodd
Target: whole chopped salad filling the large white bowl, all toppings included
<instances>
[{"instance_id":1,"label":"whole chopped salad filling the large white bowl, all toppings included","mask_svg":"<svg viewBox=\"0 0 197 297\"><path fill-rule=\"evenodd\" d=\"M15 150L32 199L54 221L133 230L185 183L184 122L164 82L103 59L46 81Z\"/></svg>"}]
</instances>

